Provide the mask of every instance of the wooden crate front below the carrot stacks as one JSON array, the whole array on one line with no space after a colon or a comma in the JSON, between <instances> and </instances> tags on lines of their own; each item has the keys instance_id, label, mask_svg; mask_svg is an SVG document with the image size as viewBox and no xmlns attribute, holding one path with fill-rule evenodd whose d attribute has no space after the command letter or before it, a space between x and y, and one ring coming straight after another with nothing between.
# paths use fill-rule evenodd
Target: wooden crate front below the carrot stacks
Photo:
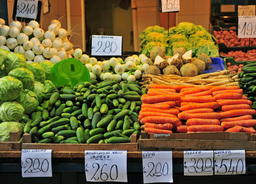
<instances>
[{"instance_id":1,"label":"wooden crate front below the carrot stacks","mask_svg":"<svg viewBox=\"0 0 256 184\"><path fill-rule=\"evenodd\" d=\"M250 133L198 132L150 134L142 132L139 151L256 150L256 136Z\"/></svg>"}]
</instances>

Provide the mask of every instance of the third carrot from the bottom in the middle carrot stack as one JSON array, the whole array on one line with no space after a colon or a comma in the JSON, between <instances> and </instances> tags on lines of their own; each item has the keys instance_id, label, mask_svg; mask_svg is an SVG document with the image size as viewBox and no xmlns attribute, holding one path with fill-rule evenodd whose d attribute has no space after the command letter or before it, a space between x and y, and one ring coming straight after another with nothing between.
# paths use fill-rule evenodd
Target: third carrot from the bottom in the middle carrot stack
<instances>
[{"instance_id":1,"label":"third carrot from the bottom in the middle carrot stack","mask_svg":"<svg viewBox=\"0 0 256 184\"><path fill-rule=\"evenodd\" d=\"M191 118L202 118L202 119L220 119L220 113L217 112L206 112L206 113L185 113L180 112L178 114L180 120L188 120Z\"/></svg>"}]
</instances>

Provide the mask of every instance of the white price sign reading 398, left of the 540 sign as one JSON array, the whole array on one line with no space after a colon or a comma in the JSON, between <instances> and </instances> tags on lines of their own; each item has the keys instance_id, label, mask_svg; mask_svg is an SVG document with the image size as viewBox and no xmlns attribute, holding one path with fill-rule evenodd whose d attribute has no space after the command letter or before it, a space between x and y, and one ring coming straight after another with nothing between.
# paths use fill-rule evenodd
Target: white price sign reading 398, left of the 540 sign
<instances>
[{"instance_id":1,"label":"white price sign reading 398, left of the 540 sign","mask_svg":"<svg viewBox=\"0 0 256 184\"><path fill-rule=\"evenodd\" d=\"M213 151L184 151L184 175L213 175Z\"/></svg>"}]
</instances>

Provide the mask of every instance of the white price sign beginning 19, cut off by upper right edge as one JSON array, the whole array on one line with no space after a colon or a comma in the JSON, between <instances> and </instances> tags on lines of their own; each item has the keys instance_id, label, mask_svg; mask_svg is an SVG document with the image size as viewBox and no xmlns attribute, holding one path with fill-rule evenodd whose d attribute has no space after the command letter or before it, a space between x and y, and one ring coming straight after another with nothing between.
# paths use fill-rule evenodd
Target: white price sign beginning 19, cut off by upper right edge
<instances>
[{"instance_id":1,"label":"white price sign beginning 19, cut off by upper right edge","mask_svg":"<svg viewBox=\"0 0 256 184\"><path fill-rule=\"evenodd\" d=\"M238 17L238 37L256 37L256 16Z\"/></svg>"}]
</instances>

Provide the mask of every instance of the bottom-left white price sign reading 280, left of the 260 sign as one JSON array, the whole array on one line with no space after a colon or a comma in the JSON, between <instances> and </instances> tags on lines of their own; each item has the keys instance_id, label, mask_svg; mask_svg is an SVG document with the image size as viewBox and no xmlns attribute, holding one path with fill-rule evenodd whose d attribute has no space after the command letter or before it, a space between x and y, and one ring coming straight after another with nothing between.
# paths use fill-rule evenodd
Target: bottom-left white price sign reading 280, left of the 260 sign
<instances>
[{"instance_id":1,"label":"bottom-left white price sign reading 280, left of the 260 sign","mask_svg":"<svg viewBox=\"0 0 256 184\"><path fill-rule=\"evenodd\" d=\"M52 150L21 150L22 177L52 177Z\"/></svg>"}]
</instances>

